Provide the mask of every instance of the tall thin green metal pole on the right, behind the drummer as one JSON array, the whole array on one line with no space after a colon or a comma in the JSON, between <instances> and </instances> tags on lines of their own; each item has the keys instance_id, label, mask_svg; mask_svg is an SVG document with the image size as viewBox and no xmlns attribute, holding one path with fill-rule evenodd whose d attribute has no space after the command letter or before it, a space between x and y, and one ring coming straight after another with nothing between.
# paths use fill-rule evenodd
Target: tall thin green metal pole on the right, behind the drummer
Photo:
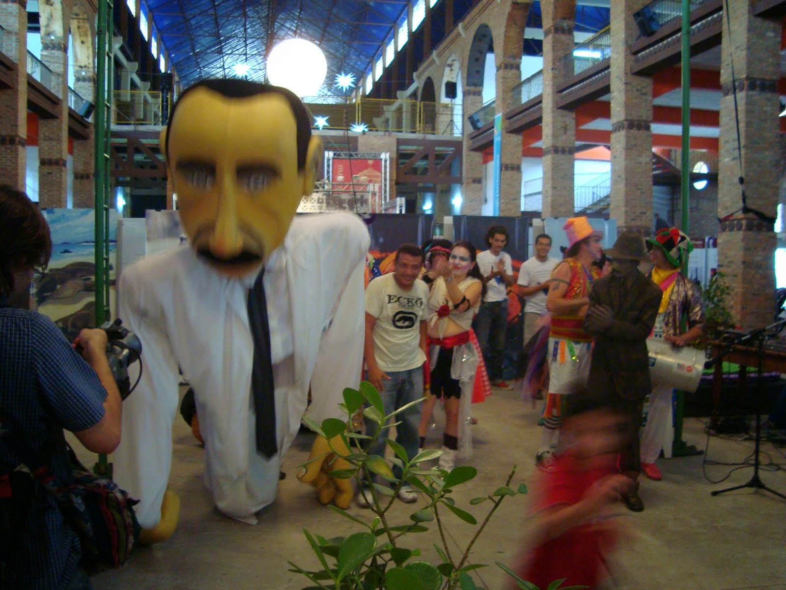
<instances>
[{"instance_id":1,"label":"tall thin green metal pole on the right, behind the drummer","mask_svg":"<svg viewBox=\"0 0 786 590\"><path fill-rule=\"evenodd\" d=\"M690 207L690 0L682 0L682 153L681 153L681 219L680 228L689 234ZM688 269L683 268L682 272ZM699 455L701 451L682 440L685 419L685 392L677 390L674 407L674 441L671 452L675 457Z\"/></svg>"}]
</instances>

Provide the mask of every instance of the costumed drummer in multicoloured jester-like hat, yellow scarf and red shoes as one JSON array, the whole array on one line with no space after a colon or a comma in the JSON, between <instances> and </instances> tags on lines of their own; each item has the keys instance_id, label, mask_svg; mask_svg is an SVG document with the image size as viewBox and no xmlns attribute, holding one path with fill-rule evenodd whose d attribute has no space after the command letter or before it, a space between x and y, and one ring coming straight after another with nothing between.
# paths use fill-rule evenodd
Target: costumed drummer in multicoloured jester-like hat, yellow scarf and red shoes
<instances>
[{"instance_id":1,"label":"costumed drummer in multicoloured jester-like hat, yellow scarf and red shoes","mask_svg":"<svg viewBox=\"0 0 786 590\"><path fill-rule=\"evenodd\" d=\"M701 293L696 285L680 272L688 264L693 244L676 227L656 232L647 239L649 257L655 267L650 277L663 293L650 337L663 338L672 346L683 347L703 334L704 312ZM683 331L683 320L687 330ZM660 455L663 430L671 411L671 385L653 383L649 396L647 423L641 432L641 470L650 478L663 478L655 460Z\"/></svg>"}]
</instances>

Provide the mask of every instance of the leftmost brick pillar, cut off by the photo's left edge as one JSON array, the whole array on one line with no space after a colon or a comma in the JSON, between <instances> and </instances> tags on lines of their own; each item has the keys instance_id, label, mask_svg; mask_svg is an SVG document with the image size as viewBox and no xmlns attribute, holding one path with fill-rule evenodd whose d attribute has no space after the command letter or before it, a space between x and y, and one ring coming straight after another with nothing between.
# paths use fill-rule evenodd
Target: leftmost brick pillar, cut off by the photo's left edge
<instances>
[{"instance_id":1,"label":"leftmost brick pillar, cut off by the photo's left edge","mask_svg":"<svg viewBox=\"0 0 786 590\"><path fill-rule=\"evenodd\" d=\"M0 183L25 190L25 146L28 138L28 13L24 6L0 3L0 24L16 39L15 55L22 56L14 72L13 88L0 90ZM19 60L17 60L19 61Z\"/></svg>"}]
</instances>

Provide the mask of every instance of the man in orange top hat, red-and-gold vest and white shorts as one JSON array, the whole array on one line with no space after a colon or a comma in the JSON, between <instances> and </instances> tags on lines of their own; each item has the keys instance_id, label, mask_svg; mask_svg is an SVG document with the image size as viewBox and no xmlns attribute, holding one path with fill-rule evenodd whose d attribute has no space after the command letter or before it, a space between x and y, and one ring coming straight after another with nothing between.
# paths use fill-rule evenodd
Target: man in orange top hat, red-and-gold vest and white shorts
<instances>
[{"instance_id":1,"label":"man in orange top hat, red-and-gold vest and white shorts","mask_svg":"<svg viewBox=\"0 0 786 590\"><path fill-rule=\"evenodd\" d=\"M589 352L592 336L583 328L589 304L589 289L600 270L593 262L601 257L600 231L593 230L586 217L571 217L563 229L568 248L565 259L554 269L546 296L551 312L549 348L549 394L543 414L543 434L535 464L549 470L553 451L559 438L565 411L565 400L576 385L586 383L589 373Z\"/></svg>"}]
</instances>

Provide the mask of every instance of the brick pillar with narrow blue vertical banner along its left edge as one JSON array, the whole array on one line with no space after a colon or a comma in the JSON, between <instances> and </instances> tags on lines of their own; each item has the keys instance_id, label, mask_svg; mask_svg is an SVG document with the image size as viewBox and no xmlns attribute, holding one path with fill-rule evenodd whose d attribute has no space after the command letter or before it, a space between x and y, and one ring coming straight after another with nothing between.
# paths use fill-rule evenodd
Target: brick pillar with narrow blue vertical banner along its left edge
<instances>
[{"instance_id":1,"label":"brick pillar with narrow blue vertical banner along its left edge","mask_svg":"<svg viewBox=\"0 0 786 590\"><path fill-rule=\"evenodd\" d=\"M497 100L494 101L494 110L503 115L499 200L501 216L521 215L521 134L505 133L504 129L504 115L514 105L512 89L521 81L520 72L520 57L504 57L497 66Z\"/></svg>"}]
</instances>

